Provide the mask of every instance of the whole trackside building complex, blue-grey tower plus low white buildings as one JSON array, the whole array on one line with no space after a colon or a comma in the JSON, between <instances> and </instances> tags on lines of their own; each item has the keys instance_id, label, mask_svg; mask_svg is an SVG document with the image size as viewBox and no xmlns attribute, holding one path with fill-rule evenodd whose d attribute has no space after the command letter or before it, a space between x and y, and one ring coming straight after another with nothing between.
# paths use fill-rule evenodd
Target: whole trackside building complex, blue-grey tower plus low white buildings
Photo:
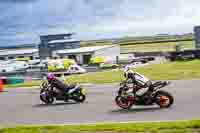
<instances>
[{"instance_id":1,"label":"whole trackside building complex, blue-grey tower plus low white buildings","mask_svg":"<svg viewBox=\"0 0 200 133\"><path fill-rule=\"evenodd\" d=\"M74 59L78 64L89 64L92 57L109 58L116 63L120 56L119 45L80 47L80 41L72 39L73 34L56 34L40 36L37 48L20 48L0 51L0 60L16 58L47 59L51 57Z\"/></svg>"}]
</instances>

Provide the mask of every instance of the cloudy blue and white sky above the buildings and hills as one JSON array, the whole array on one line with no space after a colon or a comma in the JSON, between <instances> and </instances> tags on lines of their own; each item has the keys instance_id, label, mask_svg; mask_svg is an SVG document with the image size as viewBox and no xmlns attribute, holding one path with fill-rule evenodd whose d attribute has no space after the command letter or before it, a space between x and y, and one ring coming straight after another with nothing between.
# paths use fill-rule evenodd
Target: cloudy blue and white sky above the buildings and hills
<instances>
[{"instance_id":1,"label":"cloudy blue and white sky above the buildings and hills","mask_svg":"<svg viewBox=\"0 0 200 133\"><path fill-rule=\"evenodd\" d=\"M0 0L0 46L75 32L93 40L193 32L199 0Z\"/></svg>"}]
</instances>

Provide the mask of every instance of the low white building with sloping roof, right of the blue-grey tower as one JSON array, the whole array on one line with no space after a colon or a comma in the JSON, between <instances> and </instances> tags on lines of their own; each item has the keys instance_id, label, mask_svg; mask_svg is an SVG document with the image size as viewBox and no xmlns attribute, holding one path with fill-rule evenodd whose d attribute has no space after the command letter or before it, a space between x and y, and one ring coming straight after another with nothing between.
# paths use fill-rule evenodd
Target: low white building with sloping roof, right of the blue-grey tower
<instances>
[{"instance_id":1,"label":"low white building with sloping roof, right of the blue-grey tower","mask_svg":"<svg viewBox=\"0 0 200 133\"><path fill-rule=\"evenodd\" d=\"M53 56L75 59L78 64L88 64L91 57L109 57L116 63L117 56L120 56L119 45L81 47L76 49L64 49L53 52Z\"/></svg>"}]
</instances>

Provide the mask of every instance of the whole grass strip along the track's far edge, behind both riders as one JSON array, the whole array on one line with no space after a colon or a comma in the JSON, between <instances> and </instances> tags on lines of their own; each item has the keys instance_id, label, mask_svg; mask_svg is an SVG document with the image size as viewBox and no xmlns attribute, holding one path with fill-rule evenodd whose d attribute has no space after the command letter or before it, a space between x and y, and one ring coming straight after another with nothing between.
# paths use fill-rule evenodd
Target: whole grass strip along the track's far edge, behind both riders
<instances>
[{"instance_id":1,"label":"whole grass strip along the track's far edge, behind both riders","mask_svg":"<svg viewBox=\"0 0 200 133\"><path fill-rule=\"evenodd\" d=\"M165 62L153 64L135 71L152 80L183 80L200 79L200 60ZM119 83L123 80L122 70L106 70L66 77L66 83ZM38 86L41 81L24 84L8 85L5 88Z\"/></svg>"}]
</instances>

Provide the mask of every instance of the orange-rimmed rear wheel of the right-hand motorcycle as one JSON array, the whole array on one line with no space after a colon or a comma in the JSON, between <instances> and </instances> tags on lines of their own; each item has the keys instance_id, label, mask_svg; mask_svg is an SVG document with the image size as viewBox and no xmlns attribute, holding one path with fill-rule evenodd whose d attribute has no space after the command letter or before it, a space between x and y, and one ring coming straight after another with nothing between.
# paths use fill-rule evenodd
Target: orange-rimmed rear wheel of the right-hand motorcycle
<instances>
[{"instance_id":1,"label":"orange-rimmed rear wheel of the right-hand motorcycle","mask_svg":"<svg viewBox=\"0 0 200 133\"><path fill-rule=\"evenodd\" d=\"M173 96L166 91L156 92L155 99L160 108L169 108L174 103Z\"/></svg>"}]
</instances>

